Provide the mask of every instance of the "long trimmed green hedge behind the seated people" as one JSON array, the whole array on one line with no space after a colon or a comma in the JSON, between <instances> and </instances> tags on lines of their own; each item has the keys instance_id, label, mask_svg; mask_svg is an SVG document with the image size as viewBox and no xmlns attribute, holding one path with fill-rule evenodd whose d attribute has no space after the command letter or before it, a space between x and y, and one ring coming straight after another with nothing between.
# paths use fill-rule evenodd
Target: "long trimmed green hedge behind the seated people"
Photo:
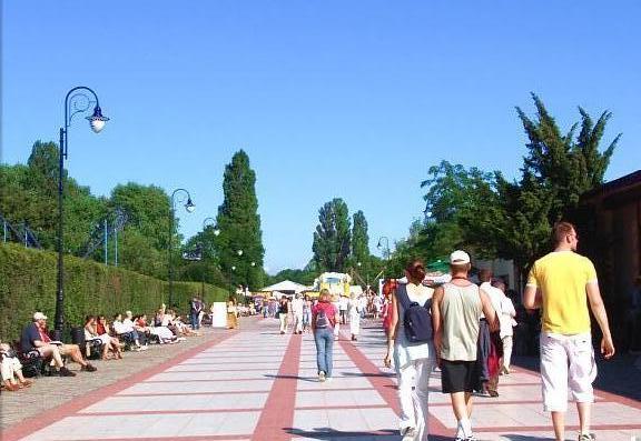
<instances>
[{"instance_id":1,"label":"long trimmed green hedge behind the seated people","mask_svg":"<svg viewBox=\"0 0 641 441\"><path fill-rule=\"evenodd\" d=\"M33 311L42 311L53 327L56 311L57 254L0 243L0 339L16 340L31 321ZM185 313L189 300L201 291L197 282L175 282L174 304ZM167 303L168 283L117 267L65 255L65 324L81 325L87 314L111 317L131 310L154 313ZM227 291L205 284L204 300L227 299Z\"/></svg>"}]
</instances>

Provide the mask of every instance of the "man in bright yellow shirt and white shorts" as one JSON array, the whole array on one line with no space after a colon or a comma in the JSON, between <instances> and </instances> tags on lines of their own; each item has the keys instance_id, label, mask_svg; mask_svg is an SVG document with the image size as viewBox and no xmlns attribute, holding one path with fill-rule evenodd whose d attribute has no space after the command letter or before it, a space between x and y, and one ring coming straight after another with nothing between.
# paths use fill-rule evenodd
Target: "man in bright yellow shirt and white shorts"
<instances>
[{"instance_id":1,"label":"man in bright yellow shirt and white shorts","mask_svg":"<svg viewBox=\"0 0 641 441\"><path fill-rule=\"evenodd\" d=\"M530 271L523 305L542 308L543 404L552 413L556 441L565 440L568 387L579 411L579 441L592 441L595 438L590 433L590 410L596 364L588 303L603 333L601 353L605 359L614 354L614 344L594 265L575 252L579 237L574 225L558 222L553 235L554 251L539 259Z\"/></svg>"}]
</instances>

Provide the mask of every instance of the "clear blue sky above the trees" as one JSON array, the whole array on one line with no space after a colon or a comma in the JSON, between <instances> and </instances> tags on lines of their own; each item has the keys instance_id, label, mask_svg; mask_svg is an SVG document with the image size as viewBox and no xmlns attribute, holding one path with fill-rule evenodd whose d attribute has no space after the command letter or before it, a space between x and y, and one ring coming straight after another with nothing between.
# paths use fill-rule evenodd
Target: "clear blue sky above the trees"
<instances>
[{"instance_id":1,"label":"clear blue sky above the trees","mask_svg":"<svg viewBox=\"0 0 641 441\"><path fill-rule=\"evenodd\" d=\"M609 180L641 164L641 2L3 2L2 149L24 163L57 141L65 94L88 86L111 118L76 121L67 167L95 194L118 183L187 188L191 235L245 149L269 272L312 257L318 208L361 209L373 251L407 234L442 159L517 176L514 106L536 92L566 130L576 106L623 137Z\"/></svg>"}]
</instances>

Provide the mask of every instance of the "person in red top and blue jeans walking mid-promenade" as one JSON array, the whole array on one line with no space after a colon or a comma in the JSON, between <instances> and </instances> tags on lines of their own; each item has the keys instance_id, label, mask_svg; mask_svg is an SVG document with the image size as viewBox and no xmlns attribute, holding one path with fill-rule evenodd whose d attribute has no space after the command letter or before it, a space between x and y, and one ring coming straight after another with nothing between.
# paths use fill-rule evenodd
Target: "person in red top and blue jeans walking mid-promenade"
<instances>
[{"instance_id":1,"label":"person in red top and blue jeans walking mid-promenade","mask_svg":"<svg viewBox=\"0 0 641 441\"><path fill-rule=\"evenodd\" d=\"M338 310L329 301L329 291L320 290L318 303L312 308L312 331L316 343L318 381L322 382L332 380L334 327L339 319Z\"/></svg>"}]
</instances>

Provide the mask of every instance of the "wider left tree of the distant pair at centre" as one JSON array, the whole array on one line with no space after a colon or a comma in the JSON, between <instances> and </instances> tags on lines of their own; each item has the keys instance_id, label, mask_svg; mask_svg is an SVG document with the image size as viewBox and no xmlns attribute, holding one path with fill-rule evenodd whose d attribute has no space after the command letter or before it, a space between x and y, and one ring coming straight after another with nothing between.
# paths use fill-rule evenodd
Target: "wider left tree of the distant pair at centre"
<instances>
[{"instance_id":1,"label":"wider left tree of the distant pair at centre","mask_svg":"<svg viewBox=\"0 0 641 441\"><path fill-rule=\"evenodd\" d=\"M341 198L326 202L318 210L312 251L322 271L344 272L349 257L351 233L347 204Z\"/></svg>"}]
</instances>

